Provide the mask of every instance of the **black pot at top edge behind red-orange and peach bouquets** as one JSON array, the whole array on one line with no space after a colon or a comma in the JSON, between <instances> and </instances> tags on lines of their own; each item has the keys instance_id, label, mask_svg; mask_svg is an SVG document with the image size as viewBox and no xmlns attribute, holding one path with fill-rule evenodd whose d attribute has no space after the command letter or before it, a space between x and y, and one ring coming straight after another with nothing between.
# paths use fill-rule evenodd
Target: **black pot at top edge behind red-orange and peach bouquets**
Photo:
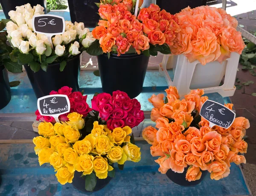
<instances>
[{"instance_id":1,"label":"black pot at top edge behind red-orange and peach bouquets","mask_svg":"<svg viewBox=\"0 0 256 196\"><path fill-rule=\"evenodd\" d=\"M157 0L157 5L161 9L165 9L166 12L170 12L171 14L179 13L182 9L186 8L187 6L191 8L195 8L198 6L205 6L207 0Z\"/></svg>"}]
</instances>

